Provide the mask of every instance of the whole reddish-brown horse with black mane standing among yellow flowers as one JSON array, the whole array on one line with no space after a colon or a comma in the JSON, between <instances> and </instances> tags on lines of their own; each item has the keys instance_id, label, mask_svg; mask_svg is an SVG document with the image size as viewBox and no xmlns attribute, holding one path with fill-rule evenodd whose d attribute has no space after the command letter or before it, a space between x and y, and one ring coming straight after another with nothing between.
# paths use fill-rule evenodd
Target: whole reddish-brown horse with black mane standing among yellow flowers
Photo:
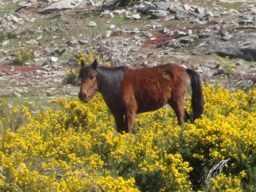
<instances>
[{"instance_id":1,"label":"whole reddish-brown horse with black mane standing among yellow flowers","mask_svg":"<svg viewBox=\"0 0 256 192\"><path fill-rule=\"evenodd\" d=\"M118 132L132 132L135 113L153 111L166 103L173 108L178 123L194 121L203 113L202 86L198 74L191 69L167 64L151 68L98 67L97 60L79 71L79 99L89 102L96 92L103 95L114 115ZM192 118L184 108L185 95L192 87Z\"/></svg>"}]
</instances>

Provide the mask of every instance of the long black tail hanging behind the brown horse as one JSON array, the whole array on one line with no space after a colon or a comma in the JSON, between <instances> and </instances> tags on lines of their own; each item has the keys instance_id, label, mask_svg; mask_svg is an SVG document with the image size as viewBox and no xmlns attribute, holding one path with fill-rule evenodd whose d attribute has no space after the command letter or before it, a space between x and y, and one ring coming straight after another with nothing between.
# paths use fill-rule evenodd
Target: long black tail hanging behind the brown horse
<instances>
[{"instance_id":1,"label":"long black tail hanging behind the brown horse","mask_svg":"<svg viewBox=\"0 0 256 192\"><path fill-rule=\"evenodd\" d=\"M192 98L191 98L191 107L193 110L192 119L193 121L196 118L201 118L201 115L204 110L204 98L202 94L202 85L199 75L196 71L192 69L186 69L188 75L190 76L190 82L192 87Z\"/></svg>"}]
</instances>

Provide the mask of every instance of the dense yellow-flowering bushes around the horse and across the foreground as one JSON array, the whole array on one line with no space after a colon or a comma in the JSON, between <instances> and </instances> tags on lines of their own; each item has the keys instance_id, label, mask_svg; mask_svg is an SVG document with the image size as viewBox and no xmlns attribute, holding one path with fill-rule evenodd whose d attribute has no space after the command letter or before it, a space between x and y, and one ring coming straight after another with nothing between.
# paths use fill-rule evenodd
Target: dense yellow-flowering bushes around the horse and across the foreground
<instances>
[{"instance_id":1,"label":"dense yellow-flowering bushes around the horse and across the foreground","mask_svg":"<svg viewBox=\"0 0 256 192\"><path fill-rule=\"evenodd\" d=\"M100 94L34 116L0 99L0 191L255 191L256 89L203 92L194 124L165 107L137 115L135 134L116 132Z\"/></svg>"}]
</instances>

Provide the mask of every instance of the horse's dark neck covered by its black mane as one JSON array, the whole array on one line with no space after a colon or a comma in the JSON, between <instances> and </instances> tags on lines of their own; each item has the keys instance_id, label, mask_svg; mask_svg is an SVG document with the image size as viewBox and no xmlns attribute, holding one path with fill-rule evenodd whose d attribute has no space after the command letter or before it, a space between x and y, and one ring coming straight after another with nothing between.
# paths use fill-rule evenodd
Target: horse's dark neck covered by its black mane
<instances>
[{"instance_id":1,"label":"horse's dark neck covered by its black mane","mask_svg":"<svg viewBox=\"0 0 256 192\"><path fill-rule=\"evenodd\" d=\"M125 68L98 67L97 82L99 92L104 98L115 97L116 94L119 94L124 74Z\"/></svg>"}]
</instances>

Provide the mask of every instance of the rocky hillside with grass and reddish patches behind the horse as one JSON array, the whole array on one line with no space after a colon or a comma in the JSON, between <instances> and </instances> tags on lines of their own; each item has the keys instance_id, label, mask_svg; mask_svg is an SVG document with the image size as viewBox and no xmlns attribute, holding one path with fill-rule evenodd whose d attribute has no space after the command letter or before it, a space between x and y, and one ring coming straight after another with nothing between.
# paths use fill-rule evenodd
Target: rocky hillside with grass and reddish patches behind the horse
<instances>
[{"instance_id":1,"label":"rocky hillside with grass and reddish patches behind the horse","mask_svg":"<svg viewBox=\"0 0 256 192\"><path fill-rule=\"evenodd\" d=\"M2 0L0 18L1 97L77 97L63 82L79 52L112 66L177 63L231 91L256 83L255 1Z\"/></svg>"}]
</instances>

